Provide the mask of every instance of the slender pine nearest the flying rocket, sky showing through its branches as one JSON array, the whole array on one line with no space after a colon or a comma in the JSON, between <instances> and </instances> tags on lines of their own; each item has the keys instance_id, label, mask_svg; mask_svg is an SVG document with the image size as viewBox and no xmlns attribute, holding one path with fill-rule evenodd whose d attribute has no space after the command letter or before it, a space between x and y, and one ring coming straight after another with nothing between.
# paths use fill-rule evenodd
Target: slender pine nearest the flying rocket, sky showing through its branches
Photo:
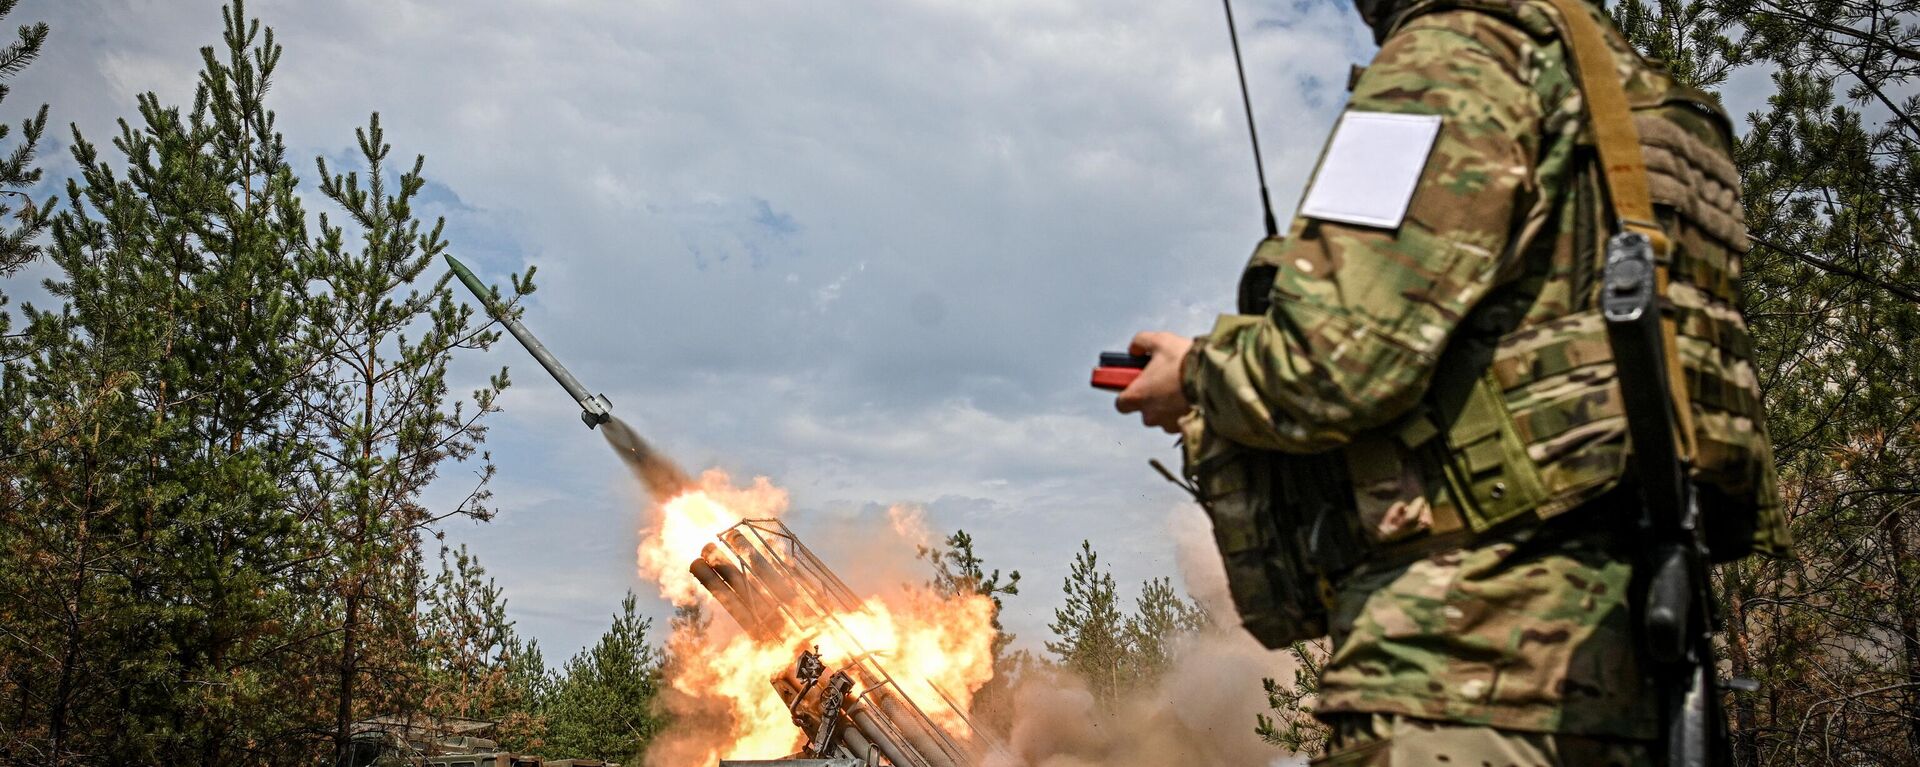
<instances>
[{"instance_id":1,"label":"slender pine nearest the flying rocket, sky showing through its branches","mask_svg":"<svg viewBox=\"0 0 1920 767\"><path fill-rule=\"evenodd\" d=\"M301 502L330 538L324 550L328 606L336 629L330 659L334 748L346 754L351 725L378 713L407 713L422 690L411 663L420 594L420 542L447 517L492 519L486 506L493 465L478 452L482 419L507 386L501 369L472 392L472 408L447 392L447 365L457 350L499 338L474 309L447 290L449 275L413 286L438 265L447 242L444 221L422 229L413 198L426 185L424 158L390 186L380 115L359 138L361 171L330 173L319 160L321 194L351 221L359 248L348 248L346 225L321 215L303 267L330 290L309 300L319 352L303 423L323 448L305 471ZM365 181L363 181L365 179ZM474 488L451 509L428 509L424 488L445 461L476 456Z\"/></svg>"}]
</instances>

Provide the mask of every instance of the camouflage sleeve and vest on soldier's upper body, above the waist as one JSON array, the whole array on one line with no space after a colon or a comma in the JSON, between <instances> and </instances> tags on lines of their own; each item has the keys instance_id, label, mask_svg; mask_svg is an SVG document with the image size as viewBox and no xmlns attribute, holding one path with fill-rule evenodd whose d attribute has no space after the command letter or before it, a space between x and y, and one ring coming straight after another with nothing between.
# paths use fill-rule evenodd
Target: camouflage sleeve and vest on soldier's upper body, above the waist
<instances>
[{"instance_id":1,"label":"camouflage sleeve and vest on soldier's upper body, above the waist","mask_svg":"<svg viewBox=\"0 0 1920 767\"><path fill-rule=\"evenodd\" d=\"M1476 531L1523 507L1551 517L1597 498L1626 465L1626 417L1594 306L1609 213L1582 148L1582 102L1551 10L1538 2L1419 10L1359 77L1350 104L1446 117L1405 221L1386 231L1296 217L1275 258L1283 269L1269 313L1223 315L1196 344L1185 381L1204 419L1204 429L1188 431L1260 450L1344 448L1369 463L1356 492L1375 542L1411 538L1450 517L1467 517ZM1718 529L1745 534L1716 554L1784 554L1789 538L1738 306L1747 240L1726 117L1617 35L1611 42L1674 242L1668 296L1680 311L1695 477L1734 500L1738 519ZM1530 296L1484 383L1507 411L1500 421L1511 434L1498 436L1517 442L1524 459L1509 456L1513 444L1488 442L1484 425L1450 434L1455 452L1482 442L1486 469L1455 482L1503 488L1503 498L1455 509L1444 482L1407 465L1407 419L1461 321L1496 286ZM1538 498L1509 492L1523 486L1538 486Z\"/></svg>"}]
</instances>

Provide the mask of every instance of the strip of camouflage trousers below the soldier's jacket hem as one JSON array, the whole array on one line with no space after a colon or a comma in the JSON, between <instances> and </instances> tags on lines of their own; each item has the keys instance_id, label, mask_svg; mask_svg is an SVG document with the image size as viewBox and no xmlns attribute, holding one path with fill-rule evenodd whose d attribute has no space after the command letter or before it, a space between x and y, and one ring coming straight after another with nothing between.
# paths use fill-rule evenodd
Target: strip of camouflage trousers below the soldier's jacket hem
<instances>
[{"instance_id":1,"label":"strip of camouflage trousers below the soldier's jacket hem","mask_svg":"<svg viewBox=\"0 0 1920 767\"><path fill-rule=\"evenodd\" d=\"M1653 744L1501 730L1398 713L1331 713L1327 755L1313 767L1655 767Z\"/></svg>"}]
</instances>

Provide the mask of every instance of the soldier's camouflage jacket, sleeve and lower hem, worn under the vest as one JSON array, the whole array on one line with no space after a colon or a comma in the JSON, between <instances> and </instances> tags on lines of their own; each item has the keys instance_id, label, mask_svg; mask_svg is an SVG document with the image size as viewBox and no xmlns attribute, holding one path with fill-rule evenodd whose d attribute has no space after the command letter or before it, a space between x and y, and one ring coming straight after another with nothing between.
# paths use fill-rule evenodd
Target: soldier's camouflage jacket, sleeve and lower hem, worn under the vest
<instances>
[{"instance_id":1,"label":"soldier's camouflage jacket, sleeve and lower hem, worn under the vest","mask_svg":"<svg viewBox=\"0 0 1920 767\"><path fill-rule=\"evenodd\" d=\"M1269 313L1221 317L1187 359L1188 438L1204 421L1208 438L1250 448L1338 448L1419 406L1498 286L1532 275L1546 288L1528 313L1569 313L1582 104L1549 12L1501 6L1409 15L1356 81L1348 110L1442 115L1405 219L1292 221ZM1622 71L1638 65L1624 42L1619 54ZM1363 565L1332 598L1317 709L1655 736L1628 581L1592 534Z\"/></svg>"}]
</instances>

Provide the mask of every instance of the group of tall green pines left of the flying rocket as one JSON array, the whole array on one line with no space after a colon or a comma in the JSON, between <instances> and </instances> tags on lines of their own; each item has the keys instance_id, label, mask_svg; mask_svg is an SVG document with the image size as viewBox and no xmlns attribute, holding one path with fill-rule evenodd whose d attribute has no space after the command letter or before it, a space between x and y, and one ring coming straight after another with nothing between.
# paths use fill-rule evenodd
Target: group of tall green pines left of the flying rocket
<instances>
[{"instance_id":1,"label":"group of tall green pines left of the flying rocket","mask_svg":"<svg viewBox=\"0 0 1920 767\"><path fill-rule=\"evenodd\" d=\"M46 38L21 27L0 77ZM438 548L493 513L507 377L449 390L497 333L428 273L422 161L394 163L374 115L357 167L301 185L273 31L234 2L202 60L192 104L140 96L106 146L75 129L54 198L27 196L46 108L0 133L0 269L44 263L56 298L0 315L0 761L330 763L371 717L540 715L586 742L586 698L653 665L632 609L547 675ZM430 507L459 461L467 496Z\"/></svg>"}]
</instances>

